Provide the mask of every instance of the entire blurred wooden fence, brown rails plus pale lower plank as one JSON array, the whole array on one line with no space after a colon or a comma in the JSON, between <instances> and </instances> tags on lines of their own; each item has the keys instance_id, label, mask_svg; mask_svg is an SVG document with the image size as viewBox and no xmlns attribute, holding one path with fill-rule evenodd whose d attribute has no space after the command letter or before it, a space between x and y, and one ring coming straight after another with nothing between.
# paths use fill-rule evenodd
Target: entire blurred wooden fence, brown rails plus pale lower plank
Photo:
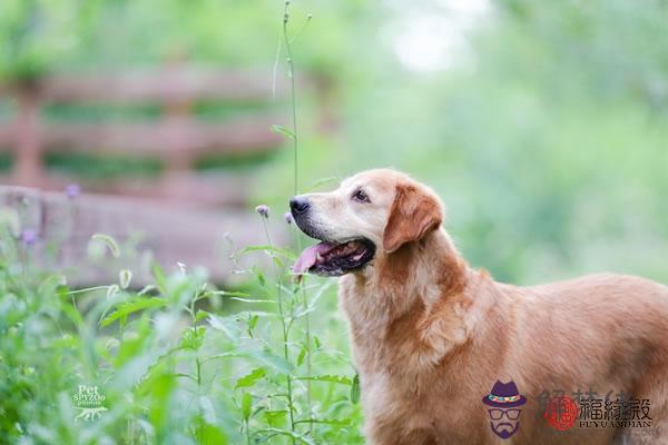
<instances>
[{"instance_id":1,"label":"entire blurred wooden fence, brown rails plus pale lower plank","mask_svg":"<svg viewBox=\"0 0 668 445\"><path fill-rule=\"evenodd\" d=\"M199 118L194 108L199 101L268 103L274 101L273 89L268 75L186 65L119 75L59 75L24 85L0 85L0 97L16 98L13 118L0 121L0 150L13 155L11 171L0 177L4 185L0 187L0 201L11 208L17 208L20 199L30 202L33 219L22 225L37 230L45 246L52 240L63 243L57 263L80 269L80 283L102 279L105 274L110 278L105 268L98 269L86 258L85 249L94 233L107 233L121 241L144 234L140 247L154 251L161 263L202 265L214 279L225 279L232 267L228 240L236 247L262 243L256 216L242 209L247 205L253 176L234 171L204 174L195 165L206 156L276 150L283 140L271 131L271 126L285 123L286 119L262 111L272 107L259 107L250 115L214 121ZM285 92L283 85L276 89L278 97ZM43 118L45 107L61 103L151 103L163 112L139 122ZM46 154L51 151L154 158L165 168L158 178L72 178L45 167ZM79 182L85 194L68 200L62 190L72 181ZM65 225L65 220L69 222ZM285 239L285 228L277 230L277 238ZM141 280L139 276L136 283Z\"/></svg>"}]
</instances>

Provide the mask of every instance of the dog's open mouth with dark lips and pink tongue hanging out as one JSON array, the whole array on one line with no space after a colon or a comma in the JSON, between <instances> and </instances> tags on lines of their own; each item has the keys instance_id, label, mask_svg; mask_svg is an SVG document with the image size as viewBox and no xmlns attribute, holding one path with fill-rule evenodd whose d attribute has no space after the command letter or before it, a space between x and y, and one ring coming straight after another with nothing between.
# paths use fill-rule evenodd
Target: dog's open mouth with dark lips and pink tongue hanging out
<instances>
[{"instance_id":1,"label":"dog's open mouth with dark lips and pink tongue hanging out","mask_svg":"<svg viewBox=\"0 0 668 445\"><path fill-rule=\"evenodd\" d=\"M297 258L294 273L311 273L326 277L338 277L362 268L373 259L375 245L366 238L342 244L318 243L307 247Z\"/></svg>"}]
</instances>

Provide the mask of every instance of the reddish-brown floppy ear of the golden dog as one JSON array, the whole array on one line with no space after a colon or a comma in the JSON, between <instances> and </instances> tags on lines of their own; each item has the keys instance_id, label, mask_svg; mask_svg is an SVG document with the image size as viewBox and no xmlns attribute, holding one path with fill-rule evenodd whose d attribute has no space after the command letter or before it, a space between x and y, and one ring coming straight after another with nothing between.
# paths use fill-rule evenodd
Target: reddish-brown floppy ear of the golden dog
<instances>
[{"instance_id":1,"label":"reddish-brown floppy ear of the golden dog","mask_svg":"<svg viewBox=\"0 0 668 445\"><path fill-rule=\"evenodd\" d=\"M416 186L400 184L383 233L383 248L391 254L438 229L442 221L443 209L439 198Z\"/></svg>"}]
</instances>

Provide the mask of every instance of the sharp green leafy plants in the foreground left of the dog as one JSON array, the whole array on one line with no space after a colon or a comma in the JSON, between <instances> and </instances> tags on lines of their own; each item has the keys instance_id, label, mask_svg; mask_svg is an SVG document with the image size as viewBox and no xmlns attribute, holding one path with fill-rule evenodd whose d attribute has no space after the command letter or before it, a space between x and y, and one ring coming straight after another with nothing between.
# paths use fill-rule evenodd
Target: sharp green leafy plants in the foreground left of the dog
<instances>
[{"instance_id":1,"label":"sharp green leafy plants in the foreground left of the dog","mask_svg":"<svg viewBox=\"0 0 668 445\"><path fill-rule=\"evenodd\" d=\"M292 57L288 68L294 78ZM293 128L281 132L294 144L296 191L294 85L292 98ZM239 266L243 291L157 264L141 288L122 268L117 283L70 288L38 266L45 241L22 235L21 211L1 216L0 443L363 443L332 283L296 283L295 254L273 243L271 215L257 220L266 244L234 255L271 264ZM116 240L95 238L122 264Z\"/></svg>"}]
</instances>

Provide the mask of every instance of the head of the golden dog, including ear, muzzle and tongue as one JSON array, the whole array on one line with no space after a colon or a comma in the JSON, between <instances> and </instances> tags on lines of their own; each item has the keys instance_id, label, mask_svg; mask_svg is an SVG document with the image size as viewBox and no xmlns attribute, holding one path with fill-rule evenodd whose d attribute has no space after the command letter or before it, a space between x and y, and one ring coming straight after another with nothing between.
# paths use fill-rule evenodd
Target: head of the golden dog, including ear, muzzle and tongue
<instances>
[{"instance_id":1,"label":"head of the golden dog, including ear, muzzle and tongue","mask_svg":"<svg viewBox=\"0 0 668 445\"><path fill-rule=\"evenodd\" d=\"M341 276L372 267L374 257L419 241L443 220L431 189L389 169L357 174L334 191L295 196L289 207L302 231L321 240L297 259L297 274Z\"/></svg>"}]
</instances>

